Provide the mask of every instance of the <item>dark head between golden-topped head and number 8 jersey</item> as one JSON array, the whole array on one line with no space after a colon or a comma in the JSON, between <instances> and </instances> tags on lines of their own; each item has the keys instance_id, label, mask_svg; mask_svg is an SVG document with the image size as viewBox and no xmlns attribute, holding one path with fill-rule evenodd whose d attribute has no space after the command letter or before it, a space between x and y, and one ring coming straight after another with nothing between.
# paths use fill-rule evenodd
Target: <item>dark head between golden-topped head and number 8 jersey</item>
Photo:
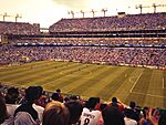
<instances>
[{"instance_id":1,"label":"dark head between golden-topped head and number 8 jersey","mask_svg":"<svg viewBox=\"0 0 166 125\"><path fill-rule=\"evenodd\" d=\"M82 104L80 102L68 102L65 103L65 106L70 111L70 125L79 122L83 111Z\"/></svg>"}]
</instances>

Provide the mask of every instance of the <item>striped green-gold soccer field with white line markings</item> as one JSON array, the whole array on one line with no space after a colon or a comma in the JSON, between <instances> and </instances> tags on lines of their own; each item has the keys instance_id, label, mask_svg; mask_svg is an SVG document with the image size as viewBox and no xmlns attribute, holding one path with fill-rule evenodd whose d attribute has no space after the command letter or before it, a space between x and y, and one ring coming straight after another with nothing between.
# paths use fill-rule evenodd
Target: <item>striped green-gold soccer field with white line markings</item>
<instances>
[{"instance_id":1,"label":"striped green-gold soccer field with white line markings","mask_svg":"<svg viewBox=\"0 0 166 125\"><path fill-rule=\"evenodd\" d=\"M45 91L98 96L113 96L128 104L166 108L166 72L160 70L41 61L3 67L0 82L12 86L41 85Z\"/></svg>"}]
</instances>

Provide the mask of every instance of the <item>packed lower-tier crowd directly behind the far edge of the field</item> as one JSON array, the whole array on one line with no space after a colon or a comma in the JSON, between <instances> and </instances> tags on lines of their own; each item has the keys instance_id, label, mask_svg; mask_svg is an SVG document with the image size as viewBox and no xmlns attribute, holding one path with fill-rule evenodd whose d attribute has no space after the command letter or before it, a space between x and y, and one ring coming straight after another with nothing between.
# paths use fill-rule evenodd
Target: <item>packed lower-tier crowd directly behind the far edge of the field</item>
<instances>
[{"instance_id":1,"label":"packed lower-tier crowd directly behind the far edge of the field","mask_svg":"<svg viewBox=\"0 0 166 125\"><path fill-rule=\"evenodd\" d=\"M43 60L165 67L165 49L106 46L0 46L0 63Z\"/></svg>"}]
</instances>

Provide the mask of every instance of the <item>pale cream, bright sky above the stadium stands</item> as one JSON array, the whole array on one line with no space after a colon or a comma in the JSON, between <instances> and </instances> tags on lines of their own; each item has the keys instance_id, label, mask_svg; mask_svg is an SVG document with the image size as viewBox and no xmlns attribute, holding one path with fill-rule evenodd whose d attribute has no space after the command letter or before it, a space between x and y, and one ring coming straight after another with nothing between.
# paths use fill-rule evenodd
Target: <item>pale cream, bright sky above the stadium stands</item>
<instances>
[{"instance_id":1,"label":"pale cream, bright sky above the stadium stands","mask_svg":"<svg viewBox=\"0 0 166 125\"><path fill-rule=\"evenodd\" d=\"M136 6L142 4L143 13L154 11L153 3L166 4L166 0L0 0L0 21L7 12L6 21L40 23L41 28L49 28L59 20L72 18L71 11L75 18L82 18L81 10L85 12L85 18L92 18L92 9L95 17L103 17L102 9L106 9L105 15L116 15L117 12L129 14L139 13ZM157 7L157 12L166 12L166 7Z\"/></svg>"}]
</instances>

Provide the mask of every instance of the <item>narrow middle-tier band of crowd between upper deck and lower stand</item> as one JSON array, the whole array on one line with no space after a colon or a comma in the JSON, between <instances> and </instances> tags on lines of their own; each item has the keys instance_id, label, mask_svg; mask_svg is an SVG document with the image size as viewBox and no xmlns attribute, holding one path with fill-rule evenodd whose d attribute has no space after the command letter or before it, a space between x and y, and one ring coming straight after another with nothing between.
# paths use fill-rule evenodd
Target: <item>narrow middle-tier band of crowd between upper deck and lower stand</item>
<instances>
[{"instance_id":1,"label":"narrow middle-tier band of crowd between upper deck and lower stand","mask_svg":"<svg viewBox=\"0 0 166 125\"><path fill-rule=\"evenodd\" d=\"M74 44L74 45L91 45L91 44L105 44L105 45L120 45L131 44L133 46L144 45L165 45L165 38L38 38L38 39L19 39L12 41L15 43L44 43L44 44Z\"/></svg>"}]
</instances>

